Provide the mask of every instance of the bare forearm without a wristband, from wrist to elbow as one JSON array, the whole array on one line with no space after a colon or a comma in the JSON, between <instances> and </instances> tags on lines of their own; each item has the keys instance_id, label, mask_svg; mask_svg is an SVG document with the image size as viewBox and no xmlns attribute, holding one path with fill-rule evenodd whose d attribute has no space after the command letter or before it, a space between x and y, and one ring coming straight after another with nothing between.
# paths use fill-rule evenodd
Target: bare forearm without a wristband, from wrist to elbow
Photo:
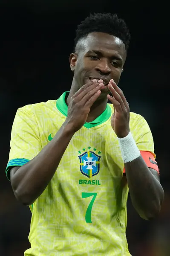
<instances>
[{"instance_id":1,"label":"bare forearm without a wristband, from wrist to elbow","mask_svg":"<svg viewBox=\"0 0 170 256\"><path fill-rule=\"evenodd\" d=\"M21 166L12 178L16 197L32 204L49 184L74 133L64 123L55 137L31 161Z\"/></svg>"}]
</instances>

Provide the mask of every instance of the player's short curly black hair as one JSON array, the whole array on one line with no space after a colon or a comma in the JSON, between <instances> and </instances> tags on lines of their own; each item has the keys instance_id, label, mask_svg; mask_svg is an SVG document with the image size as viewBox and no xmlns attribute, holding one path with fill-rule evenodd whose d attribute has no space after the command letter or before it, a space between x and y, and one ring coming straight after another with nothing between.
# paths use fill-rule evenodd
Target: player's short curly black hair
<instances>
[{"instance_id":1,"label":"player's short curly black hair","mask_svg":"<svg viewBox=\"0 0 170 256\"><path fill-rule=\"evenodd\" d=\"M94 13L85 18L76 29L75 47L81 38L89 33L103 32L121 39L127 51L130 43L130 32L126 23L117 14ZM75 49L75 48L74 48Z\"/></svg>"}]
</instances>

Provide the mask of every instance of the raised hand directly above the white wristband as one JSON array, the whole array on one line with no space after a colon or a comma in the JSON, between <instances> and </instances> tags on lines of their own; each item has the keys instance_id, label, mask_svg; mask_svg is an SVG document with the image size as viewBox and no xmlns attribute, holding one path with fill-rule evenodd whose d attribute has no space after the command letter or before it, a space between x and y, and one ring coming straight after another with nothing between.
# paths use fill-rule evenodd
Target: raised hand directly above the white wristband
<instances>
[{"instance_id":1,"label":"raised hand directly above the white wristband","mask_svg":"<svg viewBox=\"0 0 170 256\"><path fill-rule=\"evenodd\" d=\"M107 95L107 98L114 106L114 113L111 117L111 125L118 138L126 137L130 132L130 109L129 104L122 90L111 79L108 88L112 96Z\"/></svg>"}]
</instances>

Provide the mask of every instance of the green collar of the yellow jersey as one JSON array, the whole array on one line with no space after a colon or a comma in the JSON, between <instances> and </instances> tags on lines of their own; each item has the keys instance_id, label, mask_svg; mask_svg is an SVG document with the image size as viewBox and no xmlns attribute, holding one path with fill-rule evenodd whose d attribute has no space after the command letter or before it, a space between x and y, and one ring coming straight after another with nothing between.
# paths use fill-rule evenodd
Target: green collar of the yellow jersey
<instances>
[{"instance_id":1,"label":"green collar of the yellow jersey","mask_svg":"<svg viewBox=\"0 0 170 256\"><path fill-rule=\"evenodd\" d=\"M67 112L68 112L68 106L66 105L66 101L65 101L65 98L68 95L69 95L69 92L64 92L60 96L60 98L57 100L57 104L56 104L56 107L64 116L67 116ZM111 113L112 113L112 110L109 104L107 104L105 111L100 116L98 116L92 122L85 122L84 126L89 129L97 125L101 125L102 123L106 122L109 119Z\"/></svg>"}]
</instances>

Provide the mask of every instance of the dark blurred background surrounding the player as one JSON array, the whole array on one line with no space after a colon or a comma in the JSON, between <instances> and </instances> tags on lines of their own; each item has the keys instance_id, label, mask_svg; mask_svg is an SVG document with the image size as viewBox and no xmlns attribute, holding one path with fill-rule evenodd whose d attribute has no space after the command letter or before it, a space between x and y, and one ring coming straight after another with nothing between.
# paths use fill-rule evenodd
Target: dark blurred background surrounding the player
<instances>
[{"instance_id":1,"label":"dark blurred background surrounding the player","mask_svg":"<svg viewBox=\"0 0 170 256\"><path fill-rule=\"evenodd\" d=\"M58 3L57 3L58 2ZM118 13L132 40L119 86L130 111L153 133L165 200L159 217L142 220L128 200L133 256L170 255L170 21L164 1L0 0L0 256L23 256L31 213L14 198L5 169L17 108L57 99L69 90L69 54L77 24L90 12Z\"/></svg>"}]
</instances>

